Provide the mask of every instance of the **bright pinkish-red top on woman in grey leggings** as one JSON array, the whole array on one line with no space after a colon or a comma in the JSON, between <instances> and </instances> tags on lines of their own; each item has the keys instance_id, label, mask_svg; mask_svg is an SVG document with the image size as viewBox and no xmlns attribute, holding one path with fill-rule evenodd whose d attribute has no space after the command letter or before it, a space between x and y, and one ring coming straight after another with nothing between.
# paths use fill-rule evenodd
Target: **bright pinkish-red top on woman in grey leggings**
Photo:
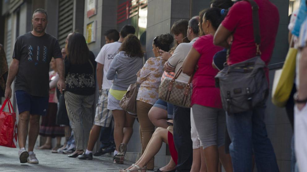
<instances>
[{"instance_id":1,"label":"bright pinkish-red top on woman in grey leggings","mask_svg":"<svg viewBox=\"0 0 307 172\"><path fill-rule=\"evenodd\" d=\"M208 106L212 108L222 108L219 88L215 87L214 76L218 74L218 70L212 68L213 56L223 48L213 45L213 36L205 35L199 37L193 44L193 48L201 54L198 59L198 69L194 74L192 84L192 100L193 104Z\"/></svg>"}]
</instances>

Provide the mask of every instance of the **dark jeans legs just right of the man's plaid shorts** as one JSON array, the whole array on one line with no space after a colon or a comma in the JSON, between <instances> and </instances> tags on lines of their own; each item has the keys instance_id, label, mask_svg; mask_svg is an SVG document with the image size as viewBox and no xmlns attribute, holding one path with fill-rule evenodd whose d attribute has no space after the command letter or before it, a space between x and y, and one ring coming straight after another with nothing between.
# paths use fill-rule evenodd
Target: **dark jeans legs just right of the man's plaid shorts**
<instances>
[{"instance_id":1,"label":"dark jeans legs just right of the man's plaid shorts","mask_svg":"<svg viewBox=\"0 0 307 172\"><path fill-rule=\"evenodd\" d=\"M105 149L111 145L115 147L114 143L114 119L112 118L109 127L101 127L100 139L101 142L100 149Z\"/></svg>"}]
</instances>

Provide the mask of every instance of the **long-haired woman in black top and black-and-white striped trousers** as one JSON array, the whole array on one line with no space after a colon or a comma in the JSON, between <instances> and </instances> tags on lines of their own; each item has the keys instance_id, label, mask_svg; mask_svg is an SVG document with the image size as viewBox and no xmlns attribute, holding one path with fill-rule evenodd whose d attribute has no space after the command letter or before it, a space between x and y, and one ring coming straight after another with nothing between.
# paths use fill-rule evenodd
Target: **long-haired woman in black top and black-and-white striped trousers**
<instances>
[{"instance_id":1,"label":"long-haired woman in black top and black-and-white striped trousers","mask_svg":"<svg viewBox=\"0 0 307 172\"><path fill-rule=\"evenodd\" d=\"M84 36L80 33L72 34L65 59L64 94L76 142L76 151L68 155L71 158L84 153L93 125L95 68L95 56L89 51Z\"/></svg>"}]
</instances>

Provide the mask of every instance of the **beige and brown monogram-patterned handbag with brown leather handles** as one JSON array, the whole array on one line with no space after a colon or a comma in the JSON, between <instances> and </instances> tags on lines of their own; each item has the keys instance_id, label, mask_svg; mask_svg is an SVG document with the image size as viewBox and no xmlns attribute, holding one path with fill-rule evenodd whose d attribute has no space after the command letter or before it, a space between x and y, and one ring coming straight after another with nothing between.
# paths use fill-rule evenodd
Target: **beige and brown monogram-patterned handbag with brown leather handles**
<instances>
[{"instance_id":1,"label":"beige and brown monogram-patterned handbag with brown leather handles","mask_svg":"<svg viewBox=\"0 0 307 172\"><path fill-rule=\"evenodd\" d=\"M178 76L182 72L182 67L176 72L173 79L164 78L159 86L159 99L168 103L184 108L191 107L191 95L192 95L192 78L191 75L189 82L177 80Z\"/></svg>"}]
</instances>

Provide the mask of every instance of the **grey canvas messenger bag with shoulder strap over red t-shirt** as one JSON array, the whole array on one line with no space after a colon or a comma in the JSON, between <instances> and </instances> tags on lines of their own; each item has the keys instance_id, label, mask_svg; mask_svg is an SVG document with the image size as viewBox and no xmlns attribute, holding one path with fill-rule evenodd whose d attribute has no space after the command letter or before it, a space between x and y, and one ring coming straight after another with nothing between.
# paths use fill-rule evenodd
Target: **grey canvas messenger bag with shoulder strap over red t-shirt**
<instances>
[{"instance_id":1,"label":"grey canvas messenger bag with shoulder strap over red t-shirt","mask_svg":"<svg viewBox=\"0 0 307 172\"><path fill-rule=\"evenodd\" d=\"M252 5L254 39L257 48L255 57L225 66L215 76L216 87L220 88L223 109L227 113L245 112L263 104L268 96L268 81L266 64L260 58L260 29L258 5L253 0L247 0Z\"/></svg>"}]
</instances>

